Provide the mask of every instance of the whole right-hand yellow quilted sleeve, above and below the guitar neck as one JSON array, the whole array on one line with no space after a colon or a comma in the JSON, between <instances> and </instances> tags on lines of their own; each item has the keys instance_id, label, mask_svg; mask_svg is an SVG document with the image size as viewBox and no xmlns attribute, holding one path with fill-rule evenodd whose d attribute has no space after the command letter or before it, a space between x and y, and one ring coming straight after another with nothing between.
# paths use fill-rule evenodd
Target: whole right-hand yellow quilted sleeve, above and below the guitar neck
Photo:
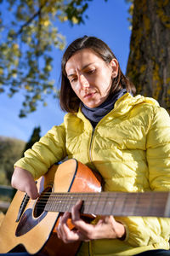
<instances>
[{"instance_id":1,"label":"whole right-hand yellow quilted sleeve, above and below the guitar neck","mask_svg":"<svg viewBox=\"0 0 170 256\"><path fill-rule=\"evenodd\" d=\"M170 117L164 108L153 110L146 139L150 189L170 191ZM122 222L127 224L126 241L133 247L158 242L169 248L170 218L127 217Z\"/></svg>"}]
</instances>

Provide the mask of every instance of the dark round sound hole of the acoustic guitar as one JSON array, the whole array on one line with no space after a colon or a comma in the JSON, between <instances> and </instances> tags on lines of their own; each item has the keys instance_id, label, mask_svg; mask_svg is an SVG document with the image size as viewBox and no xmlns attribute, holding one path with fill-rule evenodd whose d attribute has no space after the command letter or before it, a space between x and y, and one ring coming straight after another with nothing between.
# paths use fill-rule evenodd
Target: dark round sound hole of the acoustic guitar
<instances>
[{"instance_id":1,"label":"dark round sound hole of the acoustic guitar","mask_svg":"<svg viewBox=\"0 0 170 256\"><path fill-rule=\"evenodd\" d=\"M36 206L34 207L34 212L33 212L33 216L35 218L39 217L42 214L42 212L44 212L44 208L48 202L48 198L51 192L52 192L52 187L48 187L42 192L42 194L38 198Z\"/></svg>"}]
</instances>

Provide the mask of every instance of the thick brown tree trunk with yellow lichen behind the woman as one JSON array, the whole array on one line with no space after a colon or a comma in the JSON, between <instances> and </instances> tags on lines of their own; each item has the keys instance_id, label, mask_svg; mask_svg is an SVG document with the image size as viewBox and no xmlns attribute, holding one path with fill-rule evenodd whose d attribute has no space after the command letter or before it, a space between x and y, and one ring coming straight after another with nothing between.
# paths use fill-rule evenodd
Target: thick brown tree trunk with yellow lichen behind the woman
<instances>
[{"instance_id":1,"label":"thick brown tree trunk with yellow lichen behind the woman","mask_svg":"<svg viewBox=\"0 0 170 256\"><path fill-rule=\"evenodd\" d=\"M134 0L127 77L170 113L170 0Z\"/></svg>"}]
</instances>

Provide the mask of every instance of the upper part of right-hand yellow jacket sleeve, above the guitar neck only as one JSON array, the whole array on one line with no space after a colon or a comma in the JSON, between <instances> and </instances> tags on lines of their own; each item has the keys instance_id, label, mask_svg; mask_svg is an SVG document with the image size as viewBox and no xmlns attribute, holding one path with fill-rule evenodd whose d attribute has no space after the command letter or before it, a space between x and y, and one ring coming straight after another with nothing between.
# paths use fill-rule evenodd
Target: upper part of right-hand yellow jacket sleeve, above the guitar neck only
<instances>
[{"instance_id":1,"label":"upper part of right-hand yellow jacket sleeve, above the guitar neck only","mask_svg":"<svg viewBox=\"0 0 170 256\"><path fill-rule=\"evenodd\" d=\"M170 190L170 117L156 108L147 137L147 161L151 190Z\"/></svg>"}]
</instances>

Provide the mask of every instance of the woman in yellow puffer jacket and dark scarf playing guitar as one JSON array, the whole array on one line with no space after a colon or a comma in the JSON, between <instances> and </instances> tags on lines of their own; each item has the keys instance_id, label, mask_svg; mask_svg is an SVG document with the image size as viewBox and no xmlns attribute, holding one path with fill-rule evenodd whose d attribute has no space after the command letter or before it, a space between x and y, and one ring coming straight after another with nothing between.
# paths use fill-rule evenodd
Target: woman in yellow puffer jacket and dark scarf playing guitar
<instances>
[{"instance_id":1,"label":"woman in yellow puffer jacket and dark scarf playing guitar","mask_svg":"<svg viewBox=\"0 0 170 256\"><path fill-rule=\"evenodd\" d=\"M134 92L103 41L87 36L75 40L62 60L64 123L15 163L14 188L36 199L34 178L67 156L98 171L105 191L169 190L169 116L154 99L133 97ZM169 255L169 219L110 216L87 224L79 215L81 204L71 212L77 230L68 229L68 212L58 226L63 241L84 241L77 255Z\"/></svg>"}]
</instances>

